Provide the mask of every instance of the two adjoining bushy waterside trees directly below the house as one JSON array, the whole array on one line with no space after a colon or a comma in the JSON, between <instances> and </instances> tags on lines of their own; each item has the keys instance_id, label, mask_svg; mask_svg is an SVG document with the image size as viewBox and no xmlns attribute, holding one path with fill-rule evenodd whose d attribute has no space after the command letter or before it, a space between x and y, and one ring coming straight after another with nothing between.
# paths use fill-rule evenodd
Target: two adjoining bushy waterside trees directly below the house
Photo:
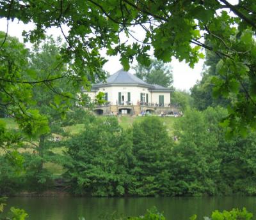
<instances>
[{"instance_id":1,"label":"two adjoining bushy waterside trees directly below the house","mask_svg":"<svg viewBox=\"0 0 256 220\"><path fill-rule=\"evenodd\" d=\"M123 131L116 118L97 119L67 142L65 178L79 194L170 194L171 141L163 123L148 117Z\"/></svg>"}]
</instances>

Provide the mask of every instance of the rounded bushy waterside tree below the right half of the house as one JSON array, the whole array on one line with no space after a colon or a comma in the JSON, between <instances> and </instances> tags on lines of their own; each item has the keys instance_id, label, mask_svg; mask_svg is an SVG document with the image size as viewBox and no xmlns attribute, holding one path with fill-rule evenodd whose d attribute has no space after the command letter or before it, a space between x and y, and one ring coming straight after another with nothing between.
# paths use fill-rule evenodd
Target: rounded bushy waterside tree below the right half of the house
<instances>
[{"instance_id":1,"label":"rounded bushy waterside tree below the right half of the house","mask_svg":"<svg viewBox=\"0 0 256 220\"><path fill-rule=\"evenodd\" d=\"M157 117L147 117L132 127L135 166L131 169L130 194L152 196L170 194L168 172L172 141Z\"/></svg>"}]
</instances>

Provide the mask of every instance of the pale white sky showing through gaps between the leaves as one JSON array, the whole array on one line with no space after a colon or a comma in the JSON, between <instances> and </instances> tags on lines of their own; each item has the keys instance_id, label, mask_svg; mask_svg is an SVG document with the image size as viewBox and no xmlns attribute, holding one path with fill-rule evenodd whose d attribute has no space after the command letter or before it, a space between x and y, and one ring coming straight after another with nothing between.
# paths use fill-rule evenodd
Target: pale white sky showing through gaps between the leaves
<instances>
[{"instance_id":1,"label":"pale white sky showing through gaps between the leaves","mask_svg":"<svg viewBox=\"0 0 256 220\"><path fill-rule=\"evenodd\" d=\"M6 19L0 19L0 31L6 32ZM23 42L22 38L22 31L26 30L29 31L33 29L33 24L23 24L22 22L17 22L15 20L14 22L9 21L9 28L8 28L8 34L10 36L16 36L19 38L21 42ZM67 32L68 30L65 29L64 27L64 32ZM47 34L52 34L54 38L57 36L61 36L61 31L60 29L52 28L47 30ZM143 37L143 33L139 29L134 29L134 34L136 34L136 38L141 38ZM127 40L127 38L124 36L124 40ZM129 41L132 42L130 39ZM29 43L26 44L26 47L31 47ZM104 52L103 52L104 54ZM116 71L120 70L122 68L122 65L120 64L120 57L107 57L109 60L104 64L103 68L104 70L108 71L110 74L115 73ZM176 89L180 90L186 90L189 91L193 85L195 85L197 80L200 80L201 77L201 72L203 68L203 63L204 60L200 60L197 64L195 64L195 68L190 68L188 64L185 62L179 62L177 59L172 59L171 66L173 70L173 86ZM136 63L134 62L131 66L134 66ZM129 70L131 73L134 73L132 69Z\"/></svg>"}]
</instances>

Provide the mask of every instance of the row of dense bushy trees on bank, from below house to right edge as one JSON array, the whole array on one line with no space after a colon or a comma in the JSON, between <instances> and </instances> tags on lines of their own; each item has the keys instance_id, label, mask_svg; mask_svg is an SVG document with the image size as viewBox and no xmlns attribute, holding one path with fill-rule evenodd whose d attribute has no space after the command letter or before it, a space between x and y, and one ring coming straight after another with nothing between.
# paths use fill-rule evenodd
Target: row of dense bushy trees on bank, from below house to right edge
<instances>
[{"instance_id":1,"label":"row of dense bushy trees on bank, from below house to right edge","mask_svg":"<svg viewBox=\"0 0 256 220\"><path fill-rule=\"evenodd\" d=\"M173 143L163 122L145 117L123 131L97 118L67 142L65 178L77 194L182 196L256 193L256 135L225 138L223 108L187 110Z\"/></svg>"}]
</instances>

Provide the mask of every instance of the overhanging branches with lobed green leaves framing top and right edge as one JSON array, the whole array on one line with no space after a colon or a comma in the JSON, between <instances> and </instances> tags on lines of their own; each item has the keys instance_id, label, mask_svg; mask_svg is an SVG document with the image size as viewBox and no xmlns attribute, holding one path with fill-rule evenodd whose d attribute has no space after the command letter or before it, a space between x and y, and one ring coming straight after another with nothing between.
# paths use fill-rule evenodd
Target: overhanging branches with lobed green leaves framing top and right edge
<instances>
[{"instance_id":1,"label":"overhanging branches with lobed green leaves framing top and right edge","mask_svg":"<svg viewBox=\"0 0 256 220\"><path fill-rule=\"evenodd\" d=\"M1 1L0 15L7 20L33 22L35 29L24 32L26 40L35 42L45 38L45 30L59 28L67 47L61 49L65 62L76 71L76 76L88 84L86 75L100 73L106 62L101 56L105 48L108 55L120 54L125 70L137 59L150 64L150 50L154 56L169 62L172 56L194 66L204 57L201 49L213 51L220 57L218 75L212 79L214 95L236 96L228 108L225 125L229 132L256 127L255 123L255 9L253 0L232 4L227 0L195 1L131 1L89 0L52 1ZM227 13L229 10L232 13ZM67 26L67 33L62 27ZM145 31L143 40L131 43L122 41L120 33L131 38L132 28ZM205 44L202 39L211 42ZM1 36L1 47L6 39ZM245 83L248 86L245 86ZM242 92L239 88L242 88Z\"/></svg>"}]
</instances>

